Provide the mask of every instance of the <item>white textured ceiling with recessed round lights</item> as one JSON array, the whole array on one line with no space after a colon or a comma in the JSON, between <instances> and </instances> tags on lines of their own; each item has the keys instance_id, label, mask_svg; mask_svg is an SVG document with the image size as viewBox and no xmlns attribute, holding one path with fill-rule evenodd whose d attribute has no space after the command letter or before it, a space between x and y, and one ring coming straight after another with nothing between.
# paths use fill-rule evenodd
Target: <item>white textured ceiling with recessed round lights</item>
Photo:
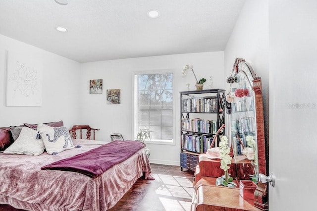
<instances>
[{"instance_id":1,"label":"white textured ceiling with recessed round lights","mask_svg":"<svg viewBox=\"0 0 317 211\"><path fill-rule=\"evenodd\" d=\"M84 63L223 51L244 0L0 0L0 34ZM158 18L147 16L158 10ZM58 32L55 27L67 28Z\"/></svg>"}]
</instances>

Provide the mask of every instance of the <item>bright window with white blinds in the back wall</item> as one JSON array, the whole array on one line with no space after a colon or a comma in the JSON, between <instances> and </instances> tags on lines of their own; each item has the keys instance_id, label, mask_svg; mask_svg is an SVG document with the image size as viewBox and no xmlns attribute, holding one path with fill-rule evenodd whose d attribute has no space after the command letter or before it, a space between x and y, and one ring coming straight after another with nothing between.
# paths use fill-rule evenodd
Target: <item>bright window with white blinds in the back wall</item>
<instances>
[{"instance_id":1,"label":"bright window with white blinds in the back wall","mask_svg":"<svg viewBox=\"0 0 317 211\"><path fill-rule=\"evenodd\" d=\"M173 143L173 73L134 75L134 137L150 129L151 142Z\"/></svg>"}]
</instances>

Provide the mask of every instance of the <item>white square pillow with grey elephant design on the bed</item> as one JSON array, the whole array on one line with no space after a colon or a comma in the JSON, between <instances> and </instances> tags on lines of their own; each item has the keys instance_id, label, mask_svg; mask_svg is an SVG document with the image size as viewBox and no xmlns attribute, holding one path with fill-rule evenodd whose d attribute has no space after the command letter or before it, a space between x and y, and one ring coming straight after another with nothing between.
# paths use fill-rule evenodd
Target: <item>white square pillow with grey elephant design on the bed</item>
<instances>
[{"instance_id":1,"label":"white square pillow with grey elephant design on the bed","mask_svg":"<svg viewBox=\"0 0 317 211\"><path fill-rule=\"evenodd\" d=\"M50 127L40 123L38 124L38 130L48 154L56 155L75 147L67 127Z\"/></svg>"}]
</instances>

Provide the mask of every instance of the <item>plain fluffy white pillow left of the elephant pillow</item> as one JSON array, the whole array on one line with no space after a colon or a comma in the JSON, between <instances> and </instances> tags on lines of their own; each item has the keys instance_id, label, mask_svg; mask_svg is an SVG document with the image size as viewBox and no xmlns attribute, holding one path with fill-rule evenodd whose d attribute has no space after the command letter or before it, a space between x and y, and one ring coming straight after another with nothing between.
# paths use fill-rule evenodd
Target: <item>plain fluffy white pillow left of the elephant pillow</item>
<instances>
[{"instance_id":1,"label":"plain fluffy white pillow left of the elephant pillow","mask_svg":"<svg viewBox=\"0 0 317 211\"><path fill-rule=\"evenodd\" d=\"M36 139L38 132L28 127L23 127L19 137L13 144L4 150L6 154L25 154L38 156L44 152L44 144L41 139Z\"/></svg>"}]
</instances>

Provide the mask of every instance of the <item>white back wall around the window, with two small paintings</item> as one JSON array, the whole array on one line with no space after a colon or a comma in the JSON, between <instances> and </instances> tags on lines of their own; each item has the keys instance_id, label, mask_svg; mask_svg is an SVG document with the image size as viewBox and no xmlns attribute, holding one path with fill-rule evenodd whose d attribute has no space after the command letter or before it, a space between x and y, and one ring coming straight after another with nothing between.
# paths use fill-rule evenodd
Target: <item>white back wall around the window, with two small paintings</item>
<instances>
[{"instance_id":1,"label":"white back wall around the window, with two small paintings","mask_svg":"<svg viewBox=\"0 0 317 211\"><path fill-rule=\"evenodd\" d=\"M176 145L148 144L151 150L150 161L161 164L179 165L180 153L180 91L186 91L189 83L195 89L195 77L189 72L182 77L181 70L192 64L198 80L208 81L204 88L209 89L209 77L213 78L213 88L224 88L223 52L163 55L131 59L118 59L84 63L81 65L80 123L98 127L96 139L109 140L111 133L121 133L126 140L133 140L133 79L134 71L173 69ZM89 94L89 80L103 79L103 94ZM106 89L121 89L121 104L106 104Z\"/></svg>"}]
</instances>

